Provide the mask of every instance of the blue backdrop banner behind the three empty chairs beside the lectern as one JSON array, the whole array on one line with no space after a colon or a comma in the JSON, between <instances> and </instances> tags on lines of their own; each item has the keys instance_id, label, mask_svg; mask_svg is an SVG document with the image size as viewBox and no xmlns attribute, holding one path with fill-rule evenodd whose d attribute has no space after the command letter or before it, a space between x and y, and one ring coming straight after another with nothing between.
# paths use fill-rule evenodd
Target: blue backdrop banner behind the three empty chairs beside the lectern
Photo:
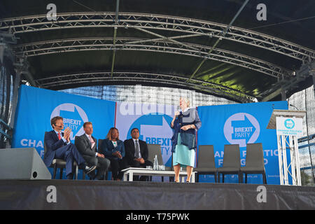
<instances>
[{"instance_id":1,"label":"blue backdrop banner behind the three empty chairs beside the lectern","mask_svg":"<svg viewBox=\"0 0 315 224\"><path fill-rule=\"evenodd\" d=\"M276 130L267 130L274 109L288 109L288 103L284 101L199 106L202 127L198 131L198 145L214 145L216 167L222 167L225 144L239 144L241 166L245 166L246 144L262 143L267 183L279 184ZM214 177L200 175L200 181L214 181ZM237 175L226 175L225 182L238 183ZM248 174L247 183L262 183L262 175Z\"/></svg>"}]
</instances>

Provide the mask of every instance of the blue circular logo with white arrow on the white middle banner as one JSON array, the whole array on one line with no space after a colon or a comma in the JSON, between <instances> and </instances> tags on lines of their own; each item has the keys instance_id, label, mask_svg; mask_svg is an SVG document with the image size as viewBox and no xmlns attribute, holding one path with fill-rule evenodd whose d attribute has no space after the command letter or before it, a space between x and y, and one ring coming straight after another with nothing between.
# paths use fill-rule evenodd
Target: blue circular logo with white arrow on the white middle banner
<instances>
[{"instance_id":1,"label":"blue circular logo with white arrow on the white middle banner","mask_svg":"<svg viewBox=\"0 0 315 224\"><path fill-rule=\"evenodd\" d=\"M131 139L131 130L139 129L139 139L146 144L159 144L161 146L163 162L166 166L172 165L172 136L173 130L169 126L172 118L162 113L148 113L139 117L128 130L127 139Z\"/></svg>"}]
</instances>

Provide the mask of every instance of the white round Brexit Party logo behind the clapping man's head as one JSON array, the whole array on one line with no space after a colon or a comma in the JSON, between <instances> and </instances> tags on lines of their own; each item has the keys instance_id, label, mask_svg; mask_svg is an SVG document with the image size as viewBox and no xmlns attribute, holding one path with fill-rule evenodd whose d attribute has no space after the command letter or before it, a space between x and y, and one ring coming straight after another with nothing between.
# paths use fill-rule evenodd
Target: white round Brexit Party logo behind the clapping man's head
<instances>
[{"instance_id":1,"label":"white round Brexit Party logo behind the clapping man's head","mask_svg":"<svg viewBox=\"0 0 315 224\"><path fill-rule=\"evenodd\" d=\"M80 106L76 104L60 104L51 113L50 119L55 116L64 118L64 129L70 127L72 132L70 140L74 140L76 136L84 134L83 123L88 121L87 115Z\"/></svg>"}]
</instances>

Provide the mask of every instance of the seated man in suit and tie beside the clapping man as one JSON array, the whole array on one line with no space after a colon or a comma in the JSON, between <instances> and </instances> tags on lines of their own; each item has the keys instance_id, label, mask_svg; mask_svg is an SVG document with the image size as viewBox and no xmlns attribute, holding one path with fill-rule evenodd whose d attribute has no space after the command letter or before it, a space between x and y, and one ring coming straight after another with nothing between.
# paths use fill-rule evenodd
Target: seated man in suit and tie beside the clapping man
<instances>
[{"instance_id":1,"label":"seated man in suit and tie beside the clapping man","mask_svg":"<svg viewBox=\"0 0 315 224\"><path fill-rule=\"evenodd\" d=\"M105 158L103 154L97 153L97 139L92 137L92 123L85 122L83 129L85 134L80 137L77 136L74 144L88 165L97 166L97 175L95 176L91 172L89 176L94 180L100 180L106 170L109 169L111 161Z\"/></svg>"}]
</instances>

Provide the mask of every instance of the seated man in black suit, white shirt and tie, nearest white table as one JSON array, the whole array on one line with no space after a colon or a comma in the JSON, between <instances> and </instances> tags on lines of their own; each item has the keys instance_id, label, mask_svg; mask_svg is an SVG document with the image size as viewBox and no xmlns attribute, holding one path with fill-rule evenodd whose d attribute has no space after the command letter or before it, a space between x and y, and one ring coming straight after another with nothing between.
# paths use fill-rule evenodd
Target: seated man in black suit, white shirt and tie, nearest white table
<instances>
[{"instance_id":1,"label":"seated man in black suit, white shirt and tie, nearest white table","mask_svg":"<svg viewBox=\"0 0 315 224\"><path fill-rule=\"evenodd\" d=\"M130 167L153 167L153 162L148 160L148 145L146 141L139 139L139 130L137 128L131 131L132 139L124 141L125 160Z\"/></svg>"}]
</instances>

